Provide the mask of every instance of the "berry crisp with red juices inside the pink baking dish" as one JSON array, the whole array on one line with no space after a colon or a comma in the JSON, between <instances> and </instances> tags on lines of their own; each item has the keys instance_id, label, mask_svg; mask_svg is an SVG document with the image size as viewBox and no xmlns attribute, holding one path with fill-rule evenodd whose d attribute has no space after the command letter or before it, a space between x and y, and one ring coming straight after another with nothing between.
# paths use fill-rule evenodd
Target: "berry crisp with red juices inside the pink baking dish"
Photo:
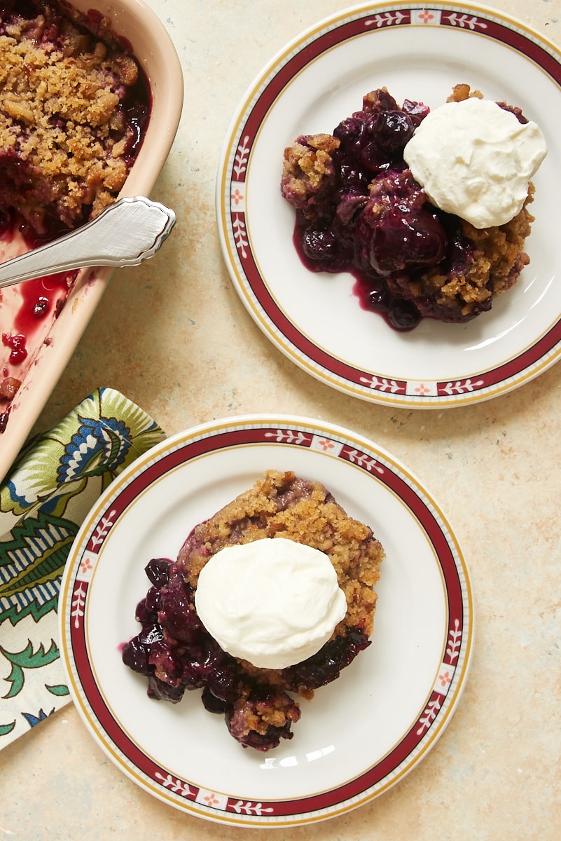
<instances>
[{"instance_id":1,"label":"berry crisp with red juices inside the pink baking dish","mask_svg":"<svg viewBox=\"0 0 561 841\"><path fill-rule=\"evenodd\" d=\"M149 119L149 93L110 21L42 0L0 0L0 258L17 257L112 204ZM0 292L0 431L28 345L76 272Z\"/></svg>"}]
</instances>

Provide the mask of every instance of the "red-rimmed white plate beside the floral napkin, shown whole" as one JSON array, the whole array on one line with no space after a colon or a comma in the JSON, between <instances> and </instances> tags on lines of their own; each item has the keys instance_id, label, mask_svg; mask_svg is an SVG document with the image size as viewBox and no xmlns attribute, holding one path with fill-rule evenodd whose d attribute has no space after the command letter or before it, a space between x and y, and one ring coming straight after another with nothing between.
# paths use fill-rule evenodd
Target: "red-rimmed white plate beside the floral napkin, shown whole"
<instances>
[{"instance_id":1,"label":"red-rimmed white plate beside the floral napkin, shown whole","mask_svg":"<svg viewBox=\"0 0 561 841\"><path fill-rule=\"evenodd\" d=\"M153 557L266 469L325 484L385 547L372 643L302 701L294 737L261 754L230 737L199 691L172 705L123 665ZM212 421L170 437L115 479L87 516L60 589L60 653L98 745L144 791L244 827L325 820L380 796L433 748L459 701L474 641L469 573L438 503L354 432L289 415Z\"/></svg>"}]
</instances>

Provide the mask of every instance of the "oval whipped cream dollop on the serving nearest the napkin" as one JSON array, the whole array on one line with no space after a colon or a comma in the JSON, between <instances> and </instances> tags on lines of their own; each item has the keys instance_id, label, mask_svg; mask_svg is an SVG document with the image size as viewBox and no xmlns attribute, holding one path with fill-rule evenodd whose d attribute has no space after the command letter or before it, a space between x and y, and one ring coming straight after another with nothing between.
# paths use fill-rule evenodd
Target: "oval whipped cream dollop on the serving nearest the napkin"
<instances>
[{"instance_id":1,"label":"oval whipped cream dollop on the serving nearest the napkin","mask_svg":"<svg viewBox=\"0 0 561 841\"><path fill-rule=\"evenodd\" d=\"M328 556L285 537L212 555L195 606L224 651L262 669L286 669L317 653L347 612Z\"/></svg>"}]
</instances>

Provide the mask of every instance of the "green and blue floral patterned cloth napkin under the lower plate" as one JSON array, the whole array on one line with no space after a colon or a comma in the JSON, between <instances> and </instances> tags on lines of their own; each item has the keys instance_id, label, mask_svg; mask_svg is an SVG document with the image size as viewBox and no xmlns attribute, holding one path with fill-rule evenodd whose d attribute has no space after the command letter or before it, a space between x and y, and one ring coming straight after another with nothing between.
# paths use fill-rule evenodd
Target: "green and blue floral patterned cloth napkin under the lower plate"
<instances>
[{"instance_id":1,"label":"green and blue floral patterned cloth napkin under the lower plate","mask_svg":"<svg viewBox=\"0 0 561 841\"><path fill-rule=\"evenodd\" d=\"M123 394L98 389L29 442L0 486L0 748L70 701L56 608L71 544L107 485L164 438Z\"/></svg>"}]
</instances>

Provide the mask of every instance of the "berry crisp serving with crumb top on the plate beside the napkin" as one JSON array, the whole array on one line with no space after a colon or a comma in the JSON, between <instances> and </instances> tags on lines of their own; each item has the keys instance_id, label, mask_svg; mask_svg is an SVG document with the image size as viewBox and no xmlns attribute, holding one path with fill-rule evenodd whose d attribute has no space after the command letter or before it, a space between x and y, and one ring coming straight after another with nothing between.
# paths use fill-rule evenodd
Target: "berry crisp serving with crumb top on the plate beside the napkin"
<instances>
[{"instance_id":1,"label":"berry crisp serving with crumb top on the plate beside the napkin","mask_svg":"<svg viewBox=\"0 0 561 841\"><path fill-rule=\"evenodd\" d=\"M327 642L301 662L276 669L224 650L203 625L196 605L199 577L211 559L225 557L231 547L256 553L263 540L262 547L296 542L319 550L343 591L342 618L328 631ZM269 470L195 526L176 561L149 561L146 574L152 586L136 609L142 630L123 646L123 663L147 676L151 698L176 703L186 690L201 689L206 709L225 717L229 733L244 748L275 748L281 738L292 738L291 725L301 717L292 696L312 699L314 690L336 680L370 645L377 598L373 588L383 558L370 527L349 517L322 484ZM298 570L289 571L286 583L297 589ZM251 648L253 640L242 643Z\"/></svg>"}]
</instances>

